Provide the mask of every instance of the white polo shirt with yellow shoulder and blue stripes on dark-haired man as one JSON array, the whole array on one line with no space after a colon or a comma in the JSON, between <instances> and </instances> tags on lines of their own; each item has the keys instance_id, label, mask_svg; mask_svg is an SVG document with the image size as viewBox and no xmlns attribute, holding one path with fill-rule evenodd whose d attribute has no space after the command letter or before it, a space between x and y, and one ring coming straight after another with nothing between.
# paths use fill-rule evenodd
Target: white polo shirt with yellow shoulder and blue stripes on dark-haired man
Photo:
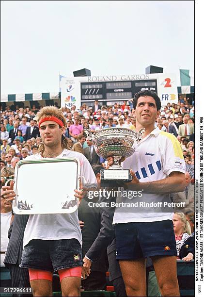
<instances>
[{"instance_id":1,"label":"white polo shirt with yellow shoulder and blue stripes on dark-haired man","mask_svg":"<svg viewBox=\"0 0 204 297\"><path fill-rule=\"evenodd\" d=\"M155 128L144 137L139 144L135 144L135 152L122 163L123 168L132 169L140 182L159 181L167 178L171 172L178 171L185 174L183 151L177 138L168 132ZM123 197L122 197L123 196ZM170 194L144 193L141 197L117 198L117 203L171 203ZM127 204L126 204L127 205ZM171 212L168 212L169 209ZM142 212L140 212L140 210ZM171 208L156 207L116 207L113 224L129 222L154 222L172 219Z\"/></svg>"}]
</instances>

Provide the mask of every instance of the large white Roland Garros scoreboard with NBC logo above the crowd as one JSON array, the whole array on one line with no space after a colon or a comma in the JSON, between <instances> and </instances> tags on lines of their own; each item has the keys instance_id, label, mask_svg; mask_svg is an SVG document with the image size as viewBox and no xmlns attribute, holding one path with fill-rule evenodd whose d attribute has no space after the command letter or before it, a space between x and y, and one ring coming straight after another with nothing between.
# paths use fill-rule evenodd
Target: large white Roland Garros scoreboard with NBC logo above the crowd
<instances>
[{"instance_id":1,"label":"large white Roland Garros scoreboard with NBC logo above the crowd","mask_svg":"<svg viewBox=\"0 0 204 297\"><path fill-rule=\"evenodd\" d=\"M94 100L112 105L132 99L135 93L150 90L157 93L161 105L178 102L175 74L132 74L87 77L63 77L61 80L61 106L93 105ZM107 102L107 103L106 103Z\"/></svg>"}]
</instances>

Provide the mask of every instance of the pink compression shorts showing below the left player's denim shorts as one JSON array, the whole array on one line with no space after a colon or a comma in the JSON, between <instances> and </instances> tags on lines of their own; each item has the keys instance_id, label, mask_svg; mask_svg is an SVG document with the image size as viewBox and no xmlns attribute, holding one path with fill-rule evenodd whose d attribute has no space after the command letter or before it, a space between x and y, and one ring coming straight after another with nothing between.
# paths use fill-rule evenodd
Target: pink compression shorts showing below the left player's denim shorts
<instances>
[{"instance_id":1,"label":"pink compression shorts showing below the left player's denim shorts","mask_svg":"<svg viewBox=\"0 0 204 297\"><path fill-rule=\"evenodd\" d=\"M67 277L78 277L81 278L81 267L71 267L58 270L60 281ZM47 280L52 281L53 273L51 271L31 269L29 268L30 281L34 280Z\"/></svg>"}]
</instances>

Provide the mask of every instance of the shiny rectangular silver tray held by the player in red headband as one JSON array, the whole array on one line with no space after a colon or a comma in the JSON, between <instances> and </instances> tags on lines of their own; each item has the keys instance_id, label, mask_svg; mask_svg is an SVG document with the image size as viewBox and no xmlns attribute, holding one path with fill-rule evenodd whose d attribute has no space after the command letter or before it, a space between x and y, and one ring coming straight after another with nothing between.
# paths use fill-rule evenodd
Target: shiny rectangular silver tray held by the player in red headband
<instances>
[{"instance_id":1,"label":"shiny rectangular silver tray held by the player in red headband","mask_svg":"<svg viewBox=\"0 0 204 297\"><path fill-rule=\"evenodd\" d=\"M74 157L19 161L14 179L15 214L75 212L78 199L74 190L79 187L79 173L80 164Z\"/></svg>"}]
</instances>

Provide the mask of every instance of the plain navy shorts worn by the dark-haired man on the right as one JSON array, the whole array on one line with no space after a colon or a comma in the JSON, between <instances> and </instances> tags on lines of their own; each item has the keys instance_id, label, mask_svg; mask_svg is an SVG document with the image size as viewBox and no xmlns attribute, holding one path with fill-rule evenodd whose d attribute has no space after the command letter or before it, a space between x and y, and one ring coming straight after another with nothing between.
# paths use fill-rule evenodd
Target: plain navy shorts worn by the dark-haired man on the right
<instances>
[{"instance_id":1,"label":"plain navy shorts worn by the dark-haired man on the right","mask_svg":"<svg viewBox=\"0 0 204 297\"><path fill-rule=\"evenodd\" d=\"M172 220L115 226L117 260L177 255Z\"/></svg>"}]
</instances>

